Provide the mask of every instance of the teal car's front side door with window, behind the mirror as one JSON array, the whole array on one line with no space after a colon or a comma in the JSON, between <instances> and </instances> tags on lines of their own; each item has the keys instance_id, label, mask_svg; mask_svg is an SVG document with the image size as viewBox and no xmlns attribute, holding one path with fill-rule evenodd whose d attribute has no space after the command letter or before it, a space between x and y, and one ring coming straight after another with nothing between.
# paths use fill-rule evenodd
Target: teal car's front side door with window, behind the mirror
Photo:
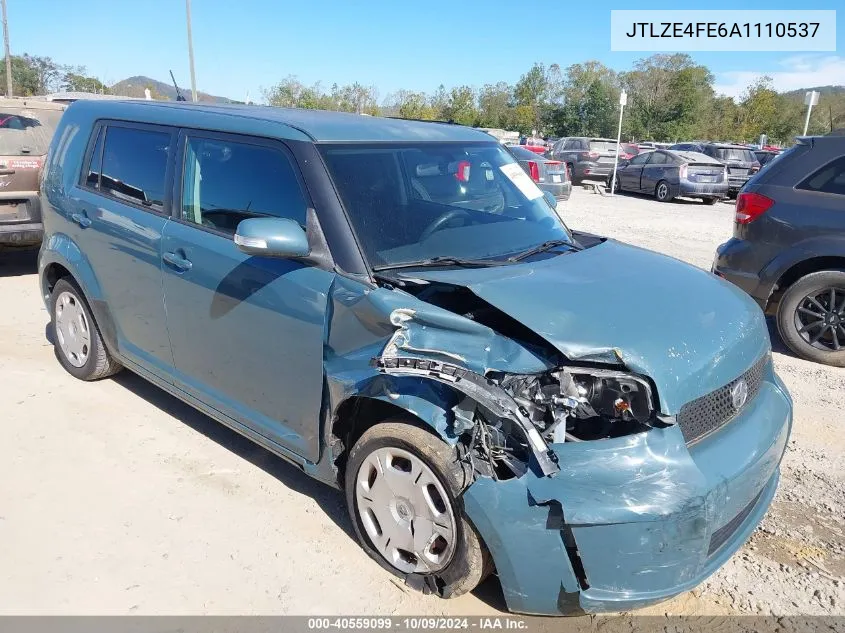
<instances>
[{"instance_id":1,"label":"teal car's front side door with window, behind the mirror","mask_svg":"<svg viewBox=\"0 0 845 633\"><path fill-rule=\"evenodd\" d=\"M316 461L334 274L246 255L233 241L249 217L305 224L309 203L293 157L279 143L199 132L183 134L179 155L179 205L162 244L176 384Z\"/></svg>"}]
</instances>

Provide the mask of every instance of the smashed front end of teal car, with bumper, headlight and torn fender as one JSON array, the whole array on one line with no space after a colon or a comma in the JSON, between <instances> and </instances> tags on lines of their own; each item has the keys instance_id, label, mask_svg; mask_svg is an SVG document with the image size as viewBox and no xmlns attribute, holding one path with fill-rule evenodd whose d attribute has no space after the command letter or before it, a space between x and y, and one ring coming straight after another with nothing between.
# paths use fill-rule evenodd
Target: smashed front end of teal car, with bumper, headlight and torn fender
<instances>
[{"instance_id":1,"label":"smashed front end of teal car, with bumper, headlight and torn fender","mask_svg":"<svg viewBox=\"0 0 845 633\"><path fill-rule=\"evenodd\" d=\"M444 439L465 464L464 509L512 611L645 606L694 587L748 538L774 495L791 420L770 363L722 441L690 447L648 377L569 362L481 321L393 310L394 334L371 364L457 394ZM525 350L540 360L521 362Z\"/></svg>"}]
</instances>

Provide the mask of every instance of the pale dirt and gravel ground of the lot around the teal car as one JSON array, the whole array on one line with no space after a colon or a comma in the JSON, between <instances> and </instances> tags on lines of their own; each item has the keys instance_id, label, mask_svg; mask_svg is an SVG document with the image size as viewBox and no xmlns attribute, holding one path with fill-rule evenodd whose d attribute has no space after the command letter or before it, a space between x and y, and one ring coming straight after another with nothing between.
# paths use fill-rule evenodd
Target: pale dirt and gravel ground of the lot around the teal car
<instances>
[{"instance_id":1,"label":"pale dirt and gravel ground of the lot around the teal car","mask_svg":"<svg viewBox=\"0 0 845 633\"><path fill-rule=\"evenodd\" d=\"M576 228L709 268L732 206L576 190ZM491 614L495 579L422 597L355 544L341 495L141 379L72 379L34 253L0 254L0 613ZM671 298L666 298L670 301ZM770 515L651 613L845 614L845 370L775 342L795 426Z\"/></svg>"}]
</instances>

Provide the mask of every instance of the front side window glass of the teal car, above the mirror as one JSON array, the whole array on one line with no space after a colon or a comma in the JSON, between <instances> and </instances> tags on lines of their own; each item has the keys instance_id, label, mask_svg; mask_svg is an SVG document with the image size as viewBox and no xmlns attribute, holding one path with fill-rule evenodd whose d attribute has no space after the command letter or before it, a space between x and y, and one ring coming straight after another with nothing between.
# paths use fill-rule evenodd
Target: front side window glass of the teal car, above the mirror
<instances>
[{"instance_id":1,"label":"front side window glass of the teal car, above the mirror","mask_svg":"<svg viewBox=\"0 0 845 633\"><path fill-rule=\"evenodd\" d=\"M270 216L305 225L307 203L288 157L279 149L188 137L182 176L182 220L234 235L241 220Z\"/></svg>"}]
</instances>

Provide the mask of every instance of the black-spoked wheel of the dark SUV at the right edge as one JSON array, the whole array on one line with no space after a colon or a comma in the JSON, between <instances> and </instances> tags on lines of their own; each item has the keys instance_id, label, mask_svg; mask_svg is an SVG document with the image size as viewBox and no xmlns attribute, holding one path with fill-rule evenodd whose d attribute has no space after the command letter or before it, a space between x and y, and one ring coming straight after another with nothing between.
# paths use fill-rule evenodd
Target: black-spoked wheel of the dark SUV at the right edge
<instances>
[{"instance_id":1,"label":"black-spoked wheel of the dark SUV at the right edge","mask_svg":"<svg viewBox=\"0 0 845 633\"><path fill-rule=\"evenodd\" d=\"M796 355L845 367L845 271L823 270L796 281L781 297L777 322Z\"/></svg>"}]
</instances>

